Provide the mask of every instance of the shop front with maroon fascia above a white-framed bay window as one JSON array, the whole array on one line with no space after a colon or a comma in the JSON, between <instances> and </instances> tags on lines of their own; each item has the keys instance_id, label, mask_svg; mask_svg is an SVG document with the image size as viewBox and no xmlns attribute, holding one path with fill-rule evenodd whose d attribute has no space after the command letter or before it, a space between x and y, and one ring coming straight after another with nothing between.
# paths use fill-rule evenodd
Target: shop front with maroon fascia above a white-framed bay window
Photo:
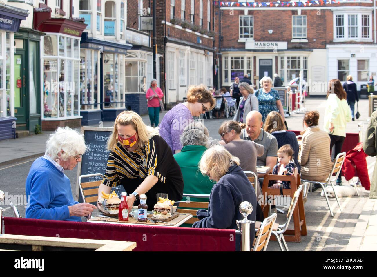
<instances>
[{"instance_id":1,"label":"shop front with maroon fascia above a white-framed bay window","mask_svg":"<svg viewBox=\"0 0 377 277\"><path fill-rule=\"evenodd\" d=\"M34 28L46 33L41 40L42 130L80 127L80 37L86 24L46 19L51 9L38 11L34 10Z\"/></svg>"}]
</instances>

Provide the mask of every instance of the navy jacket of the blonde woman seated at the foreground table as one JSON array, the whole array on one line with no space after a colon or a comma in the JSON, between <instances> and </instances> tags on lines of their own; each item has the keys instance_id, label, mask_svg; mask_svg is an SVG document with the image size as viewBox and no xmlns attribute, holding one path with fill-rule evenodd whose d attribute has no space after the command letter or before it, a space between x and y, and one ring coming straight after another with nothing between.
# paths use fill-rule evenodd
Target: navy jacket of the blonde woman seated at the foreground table
<instances>
[{"instance_id":1,"label":"navy jacket of the blonde woman seated at the foreground table","mask_svg":"<svg viewBox=\"0 0 377 277\"><path fill-rule=\"evenodd\" d=\"M257 199L255 190L238 165L232 165L228 172L213 185L208 200L208 211L201 209L196 212L199 221L194 228L216 228L237 230L236 220L244 217L238 207L241 202L248 201L253 205L253 212L247 217L255 221ZM251 224L254 230L255 224ZM251 232L253 235L254 233Z\"/></svg>"}]
</instances>

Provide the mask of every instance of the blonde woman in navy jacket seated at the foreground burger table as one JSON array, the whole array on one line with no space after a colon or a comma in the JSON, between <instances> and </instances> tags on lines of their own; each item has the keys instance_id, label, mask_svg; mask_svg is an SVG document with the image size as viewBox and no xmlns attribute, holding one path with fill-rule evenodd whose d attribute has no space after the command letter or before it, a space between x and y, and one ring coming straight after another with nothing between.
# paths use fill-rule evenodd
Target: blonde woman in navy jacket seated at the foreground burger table
<instances>
[{"instance_id":1,"label":"blonde woman in navy jacket seated at the foreground burger table","mask_svg":"<svg viewBox=\"0 0 377 277\"><path fill-rule=\"evenodd\" d=\"M216 181L209 197L208 211L196 212L199 221L194 228L216 228L237 230L236 220L242 220L238 207L244 201L253 205L253 212L247 217L255 221L257 199L244 171L239 167L239 159L232 156L221 145L208 148L199 162L203 175ZM254 230L254 226L251 226ZM254 233L252 232L254 237Z\"/></svg>"}]
</instances>

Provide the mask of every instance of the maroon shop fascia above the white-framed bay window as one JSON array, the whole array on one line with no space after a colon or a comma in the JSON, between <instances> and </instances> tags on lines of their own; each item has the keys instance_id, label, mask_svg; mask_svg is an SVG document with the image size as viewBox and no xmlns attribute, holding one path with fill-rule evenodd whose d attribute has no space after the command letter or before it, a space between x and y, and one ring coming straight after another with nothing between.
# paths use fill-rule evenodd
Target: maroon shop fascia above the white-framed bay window
<instances>
[{"instance_id":1,"label":"maroon shop fascia above the white-framed bay window","mask_svg":"<svg viewBox=\"0 0 377 277\"><path fill-rule=\"evenodd\" d=\"M34 8L34 29L45 33L61 33L81 37L86 24L68 18L51 18L51 8Z\"/></svg>"}]
</instances>

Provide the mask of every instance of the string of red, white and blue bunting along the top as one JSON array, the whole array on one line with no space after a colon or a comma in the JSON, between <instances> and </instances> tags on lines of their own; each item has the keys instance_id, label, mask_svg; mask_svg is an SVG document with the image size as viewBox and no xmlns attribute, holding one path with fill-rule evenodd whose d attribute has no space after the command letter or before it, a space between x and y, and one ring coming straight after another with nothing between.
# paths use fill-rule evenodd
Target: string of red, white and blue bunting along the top
<instances>
[{"instance_id":1,"label":"string of red, white and blue bunting along the top","mask_svg":"<svg viewBox=\"0 0 377 277\"><path fill-rule=\"evenodd\" d=\"M222 1L214 1L215 5L219 5L221 7L289 7L290 5L292 7L298 6L298 7L306 7L306 6L323 6L323 5L340 5L340 3L350 3L350 2L356 2L361 0L303 0L302 2L295 2L295 1L280 1L277 0L275 2L222 2ZM375 0L377 2L377 0Z\"/></svg>"}]
</instances>

